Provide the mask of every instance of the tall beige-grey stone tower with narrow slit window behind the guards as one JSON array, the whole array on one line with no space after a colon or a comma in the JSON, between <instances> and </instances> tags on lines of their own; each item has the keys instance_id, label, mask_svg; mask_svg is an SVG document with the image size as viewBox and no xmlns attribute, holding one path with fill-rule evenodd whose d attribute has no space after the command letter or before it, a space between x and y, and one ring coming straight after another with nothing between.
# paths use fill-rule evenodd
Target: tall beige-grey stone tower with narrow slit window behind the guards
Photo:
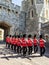
<instances>
[{"instance_id":1,"label":"tall beige-grey stone tower with narrow slit window behind the guards","mask_svg":"<svg viewBox=\"0 0 49 65\"><path fill-rule=\"evenodd\" d=\"M38 33L38 17L36 14L35 0L23 0L22 10L26 14L26 33L37 34Z\"/></svg>"}]
</instances>

